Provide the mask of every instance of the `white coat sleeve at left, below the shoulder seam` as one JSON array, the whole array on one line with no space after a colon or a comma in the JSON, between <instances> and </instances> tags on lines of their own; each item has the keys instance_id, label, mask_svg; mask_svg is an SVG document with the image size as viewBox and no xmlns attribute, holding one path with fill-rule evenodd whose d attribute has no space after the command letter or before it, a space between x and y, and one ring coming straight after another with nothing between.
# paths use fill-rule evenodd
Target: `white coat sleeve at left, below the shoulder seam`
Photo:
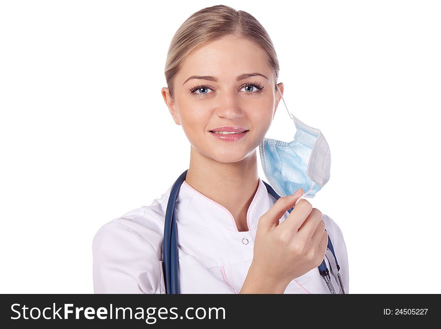
<instances>
[{"instance_id":1,"label":"white coat sleeve at left, below the shoulder seam","mask_svg":"<svg viewBox=\"0 0 441 329\"><path fill-rule=\"evenodd\" d=\"M103 225L92 243L95 293L160 293L161 261L152 232L115 219Z\"/></svg>"}]
</instances>

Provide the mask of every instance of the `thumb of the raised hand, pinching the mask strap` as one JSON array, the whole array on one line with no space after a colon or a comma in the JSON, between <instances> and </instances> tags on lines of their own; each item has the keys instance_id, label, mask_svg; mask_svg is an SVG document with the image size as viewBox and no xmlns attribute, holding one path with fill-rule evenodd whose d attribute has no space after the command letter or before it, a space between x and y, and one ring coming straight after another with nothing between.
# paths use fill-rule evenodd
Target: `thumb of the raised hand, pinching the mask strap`
<instances>
[{"instance_id":1,"label":"thumb of the raised hand, pinching the mask strap","mask_svg":"<svg viewBox=\"0 0 441 329\"><path fill-rule=\"evenodd\" d=\"M258 226L261 227L261 230L268 232L279 225L280 218L282 218L288 209L291 209L295 205L302 194L303 189L299 188L294 194L280 197L259 219Z\"/></svg>"}]
</instances>

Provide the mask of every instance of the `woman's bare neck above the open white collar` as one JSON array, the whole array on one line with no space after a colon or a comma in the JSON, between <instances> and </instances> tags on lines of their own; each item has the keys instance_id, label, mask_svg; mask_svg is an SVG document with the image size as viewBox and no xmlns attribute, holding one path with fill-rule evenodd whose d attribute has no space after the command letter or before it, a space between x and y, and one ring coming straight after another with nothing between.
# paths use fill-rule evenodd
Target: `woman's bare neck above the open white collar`
<instances>
[{"instance_id":1,"label":"woman's bare neck above the open white collar","mask_svg":"<svg viewBox=\"0 0 441 329\"><path fill-rule=\"evenodd\" d=\"M259 186L256 150L239 162L222 163L191 146L185 181L229 210L239 231L248 231L247 212Z\"/></svg>"}]
</instances>

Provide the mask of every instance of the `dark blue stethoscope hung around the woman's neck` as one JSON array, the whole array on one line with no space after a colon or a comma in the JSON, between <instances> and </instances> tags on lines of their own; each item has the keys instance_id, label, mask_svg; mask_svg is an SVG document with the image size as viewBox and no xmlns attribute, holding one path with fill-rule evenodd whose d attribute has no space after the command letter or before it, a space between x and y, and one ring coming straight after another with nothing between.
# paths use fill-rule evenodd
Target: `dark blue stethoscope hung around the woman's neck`
<instances>
[{"instance_id":1,"label":"dark blue stethoscope hung around the woman's neck","mask_svg":"<svg viewBox=\"0 0 441 329\"><path fill-rule=\"evenodd\" d=\"M165 292L176 294L179 293L179 277L178 277L178 249L177 249L177 235L176 235L176 218L174 215L174 208L176 203L177 194L179 193L179 189L182 185L182 183L185 180L185 177L187 175L187 170L185 170L179 178L174 182L173 186L170 190L170 196L168 198L167 203L167 210L165 212L165 224L164 224L164 239L163 239L163 262L162 262L162 270L164 273L164 283L165 283ZM266 182L265 186L267 187L268 192L276 199L278 200L280 196L273 190L273 188L267 184ZM294 208L291 208L288 210L289 213ZM340 284L340 289L342 293L345 293L343 281L341 279L341 275L339 273L340 266L338 265L337 257L335 256L334 247L332 246L331 239L328 235L328 247L327 250L330 250L333 258L329 259L327 255L325 255L326 259L328 259L328 262L331 266L330 260L335 260L335 268L337 269L337 278L338 282ZM323 259L322 263L320 264L319 272L320 275L323 277L323 279L326 282L326 285L329 288L329 291L331 293L337 293L335 291L334 285L331 281L331 277L329 275L328 267L326 266L325 260ZM335 269L332 269L331 266L331 273L335 277L334 273Z\"/></svg>"}]
</instances>

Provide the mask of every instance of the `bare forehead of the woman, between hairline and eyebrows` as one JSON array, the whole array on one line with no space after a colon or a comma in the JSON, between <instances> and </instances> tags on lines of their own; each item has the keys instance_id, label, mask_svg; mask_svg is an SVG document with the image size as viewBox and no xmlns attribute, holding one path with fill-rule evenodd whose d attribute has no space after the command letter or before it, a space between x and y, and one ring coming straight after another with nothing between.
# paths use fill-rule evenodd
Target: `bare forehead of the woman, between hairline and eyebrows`
<instances>
[{"instance_id":1,"label":"bare forehead of the woman, between hairline and eyebrows","mask_svg":"<svg viewBox=\"0 0 441 329\"><path fill-rule=\"evenodd\" d=\"M227 81L250 72L272 76L264 50L247 39L226 36L209 41L191 53L176 79L182 84L188 76L207 75Z\"/></svg>"}]
</instances>

